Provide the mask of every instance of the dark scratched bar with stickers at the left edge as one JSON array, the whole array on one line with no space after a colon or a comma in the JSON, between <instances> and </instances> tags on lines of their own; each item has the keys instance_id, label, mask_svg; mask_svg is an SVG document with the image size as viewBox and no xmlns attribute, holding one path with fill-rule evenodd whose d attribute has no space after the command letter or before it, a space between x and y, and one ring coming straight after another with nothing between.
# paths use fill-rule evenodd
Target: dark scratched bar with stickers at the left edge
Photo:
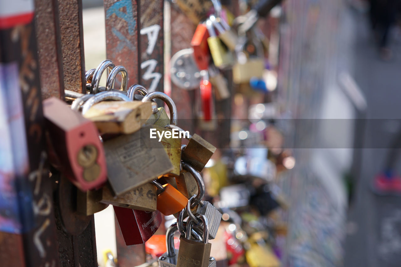
<instances>
[{"instance_id":1,"label":"dark scratched bar with stickers at the left edge","mask_svg":"<svg viewBox=\"0 0 401 267\"><path fill-rule=\"evenodd\" d=\"M59 266L33 0L0 10L0 262Z\"/></svg>"}]
</instances>

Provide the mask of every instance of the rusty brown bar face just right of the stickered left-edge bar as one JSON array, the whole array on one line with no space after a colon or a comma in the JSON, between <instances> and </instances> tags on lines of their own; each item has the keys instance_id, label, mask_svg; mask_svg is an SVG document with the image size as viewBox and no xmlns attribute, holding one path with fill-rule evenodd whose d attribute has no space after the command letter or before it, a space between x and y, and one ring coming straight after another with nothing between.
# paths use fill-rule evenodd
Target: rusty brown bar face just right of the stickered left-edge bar
<instances>
[{"instance_id":1,"label":"rusty brown bar face just right of the stickered left-edge bar","mask_svg":"<svg viewBox=\"0 0 401 267\"><path fill-rule=\"evenodd\" d=\"M56 27L59 25L55 20L55 5L57 1L35 0L36 39L43 99L51 96L64 99L63 66L59 56L60 36L56 34Z\"/></svg>"}]
</instances>

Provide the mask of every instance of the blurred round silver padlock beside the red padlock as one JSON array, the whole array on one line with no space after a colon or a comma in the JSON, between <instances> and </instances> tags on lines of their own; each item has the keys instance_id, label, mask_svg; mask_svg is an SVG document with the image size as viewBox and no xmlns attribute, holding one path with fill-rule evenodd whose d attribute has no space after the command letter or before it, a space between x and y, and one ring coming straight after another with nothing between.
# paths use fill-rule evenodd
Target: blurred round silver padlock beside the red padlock
<instances>
[{"instance_id":1,"label":"blurred round silver padlock beside the red padlock","mask_svg":"<svg viewBox=\"0 0 401 267\"><path fill-rule=\"evenodd\" d=\"M192 48L182 49L175 53L170 61L171 81L186 90L198 89L202 75L194 60Z\"/></svg>"}]
</instances>

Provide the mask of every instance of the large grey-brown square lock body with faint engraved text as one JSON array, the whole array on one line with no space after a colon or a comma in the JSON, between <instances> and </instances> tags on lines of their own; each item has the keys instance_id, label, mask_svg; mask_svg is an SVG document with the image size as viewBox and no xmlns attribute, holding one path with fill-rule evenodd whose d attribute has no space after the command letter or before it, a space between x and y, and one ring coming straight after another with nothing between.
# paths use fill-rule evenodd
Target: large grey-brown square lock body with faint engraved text
<instances>
[{"instance_id":1,"label":"large grey-brown square lock body with faint engraved text","mask_svg":"<svg viewBox=\"0 0 401 267\"><path fill-rule=\"evenodd\" d=\"M103 143L108 180L115 195L120 196L173 170L161 142L150 138L150 128L145 126L134 134Z\"/></svg>"}]
</instances>

